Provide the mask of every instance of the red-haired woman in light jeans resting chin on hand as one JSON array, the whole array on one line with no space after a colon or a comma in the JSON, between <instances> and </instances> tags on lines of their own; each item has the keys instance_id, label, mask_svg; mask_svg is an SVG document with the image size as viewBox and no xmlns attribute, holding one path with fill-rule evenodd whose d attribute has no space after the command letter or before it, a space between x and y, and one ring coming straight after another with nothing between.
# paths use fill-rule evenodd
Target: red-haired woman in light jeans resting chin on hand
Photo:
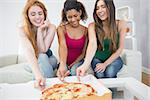
<instances>
[{"instance_id":1,"label":"red-haired woman in light jeans resting chin on hand","mask_svg":"<svg viewBox=\"0 0 150 100\"><path fill-rule=\"evenodd\" d=\"M56 27L49 22L46 8L38 0L26 3L23 17L24 25L20 28L22 46L36 80L35 87L43 89L45 78L53 77L57 66L57 60L49 49Z\"/></svg>"}]
</instances>

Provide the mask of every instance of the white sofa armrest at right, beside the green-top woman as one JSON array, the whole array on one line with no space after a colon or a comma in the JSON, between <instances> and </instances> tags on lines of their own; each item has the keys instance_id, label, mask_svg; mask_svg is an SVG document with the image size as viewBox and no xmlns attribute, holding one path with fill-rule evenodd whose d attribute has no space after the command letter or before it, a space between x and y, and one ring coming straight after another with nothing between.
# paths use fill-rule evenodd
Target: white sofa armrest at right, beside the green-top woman
<instances>
[{"instance_id":1,"label":"white sofa armrest at right, beside the green-top woman","mask_svg":"<svg viewBox=\"0 0 150 100\"><path fill-rule=\"evenodd\" d=\"M142 54L139 51L125 49L121 54L124 64L128 67L128 74L141 81Z\"/></svg>"}]
</instances>

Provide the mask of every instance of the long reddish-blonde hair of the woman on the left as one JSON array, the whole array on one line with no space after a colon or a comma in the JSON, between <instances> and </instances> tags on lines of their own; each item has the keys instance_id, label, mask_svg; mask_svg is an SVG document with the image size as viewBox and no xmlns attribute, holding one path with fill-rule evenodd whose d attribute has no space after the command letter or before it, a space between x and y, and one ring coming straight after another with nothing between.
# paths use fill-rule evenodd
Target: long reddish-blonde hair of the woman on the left
<instances>
[{"instance_id":1,"label":"long reddish-blonde hair of the woman on the left","mask_svg":"<svg viewBox=\"0 0 150 100\"><path fill-rule=\"evenodd\" d=\"M37 47L37 42L36 42L36 31L33 29L33 24L30 22L29 16L28 16L28 11L32 6L39 6L40 8L43 9L44 16L46 19L47 16L47 9L45 8L44 4L38 0L28 0L23 11L23 17L24 17L24 31L27 35L27 38L31 42L33 49L35 51L35 55L38 58L38 47Z\"/></svg>"}]
</instances>

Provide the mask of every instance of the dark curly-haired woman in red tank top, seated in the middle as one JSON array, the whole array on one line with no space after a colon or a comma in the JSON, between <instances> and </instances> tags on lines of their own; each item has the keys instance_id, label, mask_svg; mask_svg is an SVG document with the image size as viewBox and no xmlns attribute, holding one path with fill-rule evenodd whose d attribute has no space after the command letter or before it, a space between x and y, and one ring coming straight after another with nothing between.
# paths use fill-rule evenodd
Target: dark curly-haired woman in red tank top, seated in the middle
<instances>
[{"instance_id":1,"label":"dark curly-haired woman in red tank top, seated in the middle","mask_svg":"<svg viewBox=\"0 0 150 100\"><path fill-rule=\"evenodd\" d=\"M76 75L76 68L83 63L87 46L87 28L80 20L87 19L82 3L66 0L62 10L62 23L58 27L60 65L57 76L63 80L67 75Z\"/></svg>"}]
</instances>

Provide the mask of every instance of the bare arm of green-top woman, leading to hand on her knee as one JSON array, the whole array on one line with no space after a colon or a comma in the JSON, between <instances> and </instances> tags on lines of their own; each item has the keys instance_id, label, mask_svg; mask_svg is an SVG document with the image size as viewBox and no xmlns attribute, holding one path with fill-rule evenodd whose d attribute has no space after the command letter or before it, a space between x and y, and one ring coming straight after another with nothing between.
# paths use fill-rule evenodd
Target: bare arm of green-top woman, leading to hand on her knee
<instances>
[{"instance_id":1,"label":"bare arm of green-top woman, leading to hand on her knee","mask_svg":"<svg viewBox=\"0 0 150 100\"><path fill-rule=\"evenodd\" d=\"M125 41L125 36L126 36L126 22L125 21L120 21L118 24L118 31L120 33L120 39L119 39L119 48L117 49L116 52L114 52L105 62L104 64L108 66L111 64L116 58L118 58L124 49L124 41Z\"/></svg>"}]
</instances>

